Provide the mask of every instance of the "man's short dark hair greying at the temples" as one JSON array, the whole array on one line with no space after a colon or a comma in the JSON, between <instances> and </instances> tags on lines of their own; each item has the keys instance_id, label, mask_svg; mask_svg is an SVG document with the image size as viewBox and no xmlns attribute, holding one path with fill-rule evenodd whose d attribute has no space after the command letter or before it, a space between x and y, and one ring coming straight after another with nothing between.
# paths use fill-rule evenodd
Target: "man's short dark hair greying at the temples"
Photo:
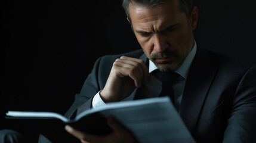
<instances>
[{"instance_id":1,"label":"man's short dark hair greying at the temples","mask_svg":"<svg viewBox=\"0 0 256 143\"><path fill-rule=\"evenodd\" d=\"M131 21L131 17L129 16L130 3L139 4L143 7L149 8L149 7L155 7L157 5L161 5L165 1L167 0L122 0L122 7L124 8L129 21ZM193 0L179 0L179 1L180 1L180 10L186 13L187 17L189 17L190 11L192 10L192 7L193 7Z\"/></svg>"}]
</instances>

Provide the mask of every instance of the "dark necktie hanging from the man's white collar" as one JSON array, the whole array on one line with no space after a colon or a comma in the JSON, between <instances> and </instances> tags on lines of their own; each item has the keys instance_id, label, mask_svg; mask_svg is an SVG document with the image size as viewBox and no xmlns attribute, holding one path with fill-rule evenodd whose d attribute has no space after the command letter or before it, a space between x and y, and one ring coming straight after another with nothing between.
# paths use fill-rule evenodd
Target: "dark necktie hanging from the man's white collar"
<instances>
[{"instance_id":1,"label":"dark necktie hanging from the man's white collar","mask_svg":"<svg viewBox=\"0 0 256 143\"><path fill-rule=\"evenodd\" d=\"M174 83L175 80L177 80L180 74L175 73L174 71L170 73L165 73L160 70L155 70L154 74L162 82L162 91L159 97L169 96L172 100L172 103L174 104L174 91L172 88L172 83Z\"/></svg>"}]
</instances>

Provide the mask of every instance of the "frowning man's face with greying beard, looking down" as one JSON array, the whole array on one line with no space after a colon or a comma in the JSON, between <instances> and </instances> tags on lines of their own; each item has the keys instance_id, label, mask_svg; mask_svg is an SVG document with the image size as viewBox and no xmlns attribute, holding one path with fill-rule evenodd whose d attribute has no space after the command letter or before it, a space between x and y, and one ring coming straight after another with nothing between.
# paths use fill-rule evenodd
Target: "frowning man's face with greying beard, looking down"
<instances>
[{"instance_id":1,"label":"frowning man's face with greying beard, looking down","mask_svg":"<svg viewBox=\"0 0 256 143\"><path fill-rule=\"evenodd\" d=\"M161 71L178 69L194 45L197 8L193 8L190 20L180 11L179 0L168 0L153 8L129 4L129 14L132 29L147 57Z\"/></svg>"}]
</instances>

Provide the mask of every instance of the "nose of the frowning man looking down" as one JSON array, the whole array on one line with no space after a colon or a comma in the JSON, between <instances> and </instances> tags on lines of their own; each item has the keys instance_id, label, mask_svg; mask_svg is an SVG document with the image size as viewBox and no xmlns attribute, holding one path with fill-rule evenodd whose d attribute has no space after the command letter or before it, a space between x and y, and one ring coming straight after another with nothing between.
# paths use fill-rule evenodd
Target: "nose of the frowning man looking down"
<instances>
[{"instance_id":1,"label":"nose of the frowning man looking down","mask_svg":"<svg viewBox=\"0 0 256 143\"><path fill-rule=\"evenodd\" d=\"M153 44L154 44L154 49L157 52L164 52L165 49L168 48L169 46L164 36L161 36L161 34L159 33L155 33L153 35Z\"/></svg>"}]
</instances>

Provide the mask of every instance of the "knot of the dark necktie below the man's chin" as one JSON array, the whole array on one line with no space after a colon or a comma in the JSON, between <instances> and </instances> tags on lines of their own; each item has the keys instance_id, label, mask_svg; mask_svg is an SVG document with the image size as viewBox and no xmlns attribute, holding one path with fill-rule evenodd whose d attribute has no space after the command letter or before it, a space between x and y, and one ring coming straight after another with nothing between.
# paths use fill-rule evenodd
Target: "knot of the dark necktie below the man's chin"
<instances>
[{"instance_id":1,"label":"knot of the dark necktie below the man's chin","mask_svg":"<svg viewBox=\"0 0 256 143\"><path fill-rule=\"evenodd\" d=\"M156 77L158 77L159 80L161 80L162 83L168 84L174 83L175 80L177 80L178 77L180 76L180 74L175 73L174 71L165 73L160 70L155 70L154 74L156 75Z\"/></svg>"}]
</instances>

